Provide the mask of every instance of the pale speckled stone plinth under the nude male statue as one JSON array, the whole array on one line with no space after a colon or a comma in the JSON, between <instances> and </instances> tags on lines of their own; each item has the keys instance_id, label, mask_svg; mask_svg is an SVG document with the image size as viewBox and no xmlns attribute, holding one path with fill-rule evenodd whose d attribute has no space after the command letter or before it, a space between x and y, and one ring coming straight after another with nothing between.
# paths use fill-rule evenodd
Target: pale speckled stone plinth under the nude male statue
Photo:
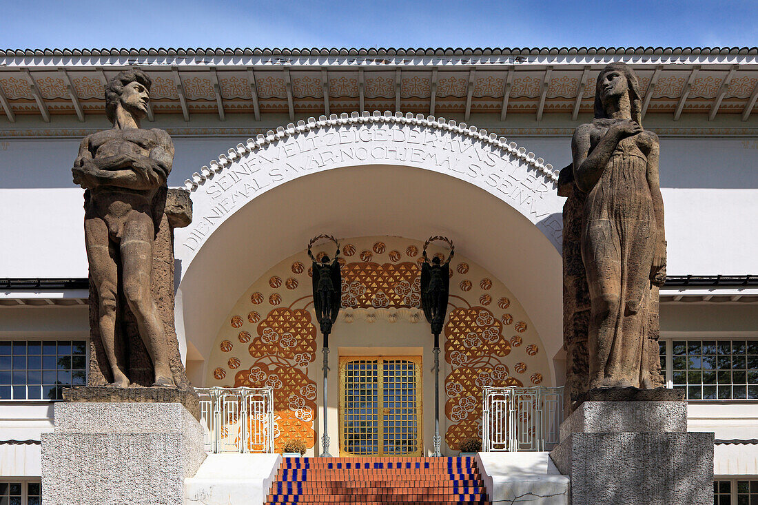
<instances>
[{"instance_id":1,"label":"pale speckled stone plinth under the nude male statue","mask_svg":"<svg viewBox=\"0 0 758 505\"><path fill-rule=\"evenodd\" d=\"M181 403L56 403L42 501L179 505L204 459L202 426Z\"/></svg>"}]
</instances>

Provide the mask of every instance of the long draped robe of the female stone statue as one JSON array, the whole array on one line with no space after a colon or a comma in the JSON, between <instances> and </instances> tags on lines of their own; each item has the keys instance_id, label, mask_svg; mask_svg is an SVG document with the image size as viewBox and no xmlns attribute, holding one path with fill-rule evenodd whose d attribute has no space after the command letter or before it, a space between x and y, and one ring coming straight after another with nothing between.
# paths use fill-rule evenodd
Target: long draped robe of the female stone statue
<instances>
[{"instance_id":1,"label":"long draped robe of the female stone statue","mask_svg":"<svg viewBox=\"0 0 758 505\"><path fill-rule=\"evenodd\" d=\"M647 157L635 139L619 142L584 202L581 255L593 306L587 344L595 386L650 387L643 362L658 231Z\"/></svg>"}]
</instances>

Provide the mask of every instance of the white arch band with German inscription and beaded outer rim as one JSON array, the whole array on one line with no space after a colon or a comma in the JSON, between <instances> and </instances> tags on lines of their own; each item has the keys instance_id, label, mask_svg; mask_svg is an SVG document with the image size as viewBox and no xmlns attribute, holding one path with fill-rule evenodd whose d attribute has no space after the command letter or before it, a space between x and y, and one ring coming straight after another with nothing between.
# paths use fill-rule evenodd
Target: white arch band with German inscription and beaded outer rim
<instances>
[{"instance_id":1,"label":"white arch band with German inscription and beaded outer rim","mask_svg":"<svg viewBox=\"0 0 758 505\"><path fill-rule=\"evenodd\" d=\"M177 230L189 265L208 237L252 199L290 180L334 168L397 165L456 177L528 218L560 252L558 171L515 142L465 123L421 114L341 114L298 121L239 143L185 181L193 224Z\"/></svg>"}]
</instances>

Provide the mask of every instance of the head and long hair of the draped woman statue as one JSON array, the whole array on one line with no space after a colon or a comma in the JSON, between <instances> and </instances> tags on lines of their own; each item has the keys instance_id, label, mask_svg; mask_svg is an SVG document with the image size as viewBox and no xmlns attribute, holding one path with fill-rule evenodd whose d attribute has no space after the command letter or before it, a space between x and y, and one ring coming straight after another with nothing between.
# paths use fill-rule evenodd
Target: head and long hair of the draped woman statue
<instances>
[{"instance_id":1,"label":"head and long hair of the draped woman statue","mask_svg":"<svg viewBox=\"0 0 758 505\"><path fill-rule=\"evenodd\" d=\"M609 118L606 109L612 101L621 101L619 105L628 106L632 120L642 124L640 81L631 67L622 61L607 64L597 76L595 118Z\"/></svg>"}]
</instances>

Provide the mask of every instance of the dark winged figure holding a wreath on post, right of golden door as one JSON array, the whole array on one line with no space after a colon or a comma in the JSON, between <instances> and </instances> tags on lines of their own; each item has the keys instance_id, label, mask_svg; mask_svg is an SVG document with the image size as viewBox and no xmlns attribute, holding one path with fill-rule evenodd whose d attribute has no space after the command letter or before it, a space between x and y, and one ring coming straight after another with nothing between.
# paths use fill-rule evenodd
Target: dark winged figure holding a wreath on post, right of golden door
<instances>
[{"instance_id":1,"label":"dark winged figure holding a wreath on post, right of golden door","mask_svg":"<svg viewBox=\"0 0 758 505\"><path fill-rule=\"evenodd\" d=\"M442 240L450 246L450 254L445 262L439 255L431 260L427 256L427 247L435 240ZM434 335L434 456L442 456L440 446L440 333L442 333L447 314L447 300L450 291L450 260L455 256L456 247L447 237L429 237L424 243L421 264L421 308L431 325Z\"/></svg>"}]
</instances>

